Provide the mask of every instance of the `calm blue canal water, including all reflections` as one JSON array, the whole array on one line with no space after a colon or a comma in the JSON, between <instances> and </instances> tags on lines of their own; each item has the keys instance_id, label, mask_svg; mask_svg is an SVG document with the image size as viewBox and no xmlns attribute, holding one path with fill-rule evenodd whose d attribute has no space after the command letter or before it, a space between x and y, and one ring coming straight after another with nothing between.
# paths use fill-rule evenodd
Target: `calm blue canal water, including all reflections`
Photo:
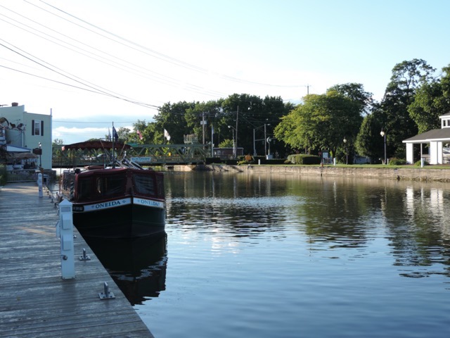
<instances>
[{"instance_id":1,"label":"calm blue canal water, including all reflections","mask_svg":"<svg viewBox=\"0 0 450 338\"><path fill-rule=\"evenodd\" d=\"M450 337L449 184L165 182L167 237L109 268L155 337Z\"/></svg>"}]
</instances>

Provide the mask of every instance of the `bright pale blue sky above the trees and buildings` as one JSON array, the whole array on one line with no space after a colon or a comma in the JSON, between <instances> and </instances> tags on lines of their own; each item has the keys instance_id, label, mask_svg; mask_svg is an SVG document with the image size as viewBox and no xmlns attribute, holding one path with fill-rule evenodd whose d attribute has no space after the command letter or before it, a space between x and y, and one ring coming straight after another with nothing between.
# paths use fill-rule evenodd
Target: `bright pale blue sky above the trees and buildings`
<instances>
[{"instance_id":1,"label":"bright pale blue sky above the trees and buildings","mask_svg":"<svg viewBox=\"0 0 450 338\"><path fill-rule=\"evenodd\" d=\"M347 82L380 100L395 64L450 64L449 10L444 0L0 0L0 104L52 110L53 138L72 143L113 121L150 121L166 102L297 103L307 86Z\"/></svg>"}]
</instances>

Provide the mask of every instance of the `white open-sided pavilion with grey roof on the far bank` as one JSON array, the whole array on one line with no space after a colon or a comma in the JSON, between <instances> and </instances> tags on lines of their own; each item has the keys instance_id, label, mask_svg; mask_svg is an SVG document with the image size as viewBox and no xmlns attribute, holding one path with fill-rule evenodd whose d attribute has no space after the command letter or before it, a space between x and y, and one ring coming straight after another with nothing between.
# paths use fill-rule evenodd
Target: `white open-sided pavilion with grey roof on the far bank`
<instances>
[{"instance_id":1,"label":"white open-sided pavilion with grey roof on the far bank","mask_svg":"<svg viewBox=\"0 0 450 338\"><path fill-rule=\"evenodd\" d=\"M412 164L414 162L414 144L420 144L420 157L429 156L430 164L450 163L448 145L444 147L450 143L450 113L439 116L439 118L441 119L441 129L429 130L403 141L406 144L406 163ZM430 144L428 156L423 154L423 144Z\"/></svg>"}]
</instances>

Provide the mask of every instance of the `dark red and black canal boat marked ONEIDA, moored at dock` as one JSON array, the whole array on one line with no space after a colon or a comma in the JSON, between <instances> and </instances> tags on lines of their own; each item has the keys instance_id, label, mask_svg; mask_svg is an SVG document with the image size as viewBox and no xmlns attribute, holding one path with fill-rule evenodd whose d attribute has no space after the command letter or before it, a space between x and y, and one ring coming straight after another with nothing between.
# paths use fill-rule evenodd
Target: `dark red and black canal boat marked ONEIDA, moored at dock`
<instances>
[{"instance_id":1,"label":"dark red and black canal boat marked ONEIDA, moored at dock","mask_svg":"<svg viewBox=\"0 0 450 338\"><path fill-rule=\"evenodd\" d=\"M63 178L73 223L83 237L134 238L165 232L162 173L127 167L86 169L71 170Z\"/></svg>"}]
</instances>

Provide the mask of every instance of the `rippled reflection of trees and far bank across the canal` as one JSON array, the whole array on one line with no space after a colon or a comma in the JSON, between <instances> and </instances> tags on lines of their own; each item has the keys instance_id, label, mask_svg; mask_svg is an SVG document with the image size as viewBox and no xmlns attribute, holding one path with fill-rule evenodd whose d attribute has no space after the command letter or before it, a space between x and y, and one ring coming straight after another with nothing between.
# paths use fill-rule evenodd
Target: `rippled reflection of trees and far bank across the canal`
<instances>
[{"instance_id":1,"label":"rippled reflection of trees and far bank across the canal","mask_svg":"<svg viewBox=\"0 0 450 338\"><path fill-rule=\"evenodd\" d=\"M171 173L166 182L169 222L186 232L239 241L295 230L311 252L352 260L386 242L399 275L450 276L445 184L245 173Z\"/></svg>"}]
</instances>

